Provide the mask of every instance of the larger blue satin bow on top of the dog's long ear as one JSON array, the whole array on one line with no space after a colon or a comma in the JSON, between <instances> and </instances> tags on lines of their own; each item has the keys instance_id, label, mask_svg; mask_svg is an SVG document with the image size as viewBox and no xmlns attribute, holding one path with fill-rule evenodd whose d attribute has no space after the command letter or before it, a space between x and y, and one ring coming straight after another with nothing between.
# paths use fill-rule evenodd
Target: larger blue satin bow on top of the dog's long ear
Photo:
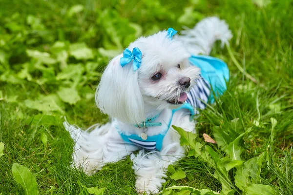
<instances>
[{"instance_id":1,"label":"larger blue satin bow on top of the dog's long ear","mask_svg":"<svg viewBox=\"0 0 293 195\"><path fill-rule=\"evenodd\" d=\"M126 64L133 60L132 64L134 72L140 67L142 63L142 56L143 54L138 47L134 47L132 53L128 48L126 48L123 52L123 58L120 58L120 64L122 67L124 67Z\"/></svg>"}]
</instances>

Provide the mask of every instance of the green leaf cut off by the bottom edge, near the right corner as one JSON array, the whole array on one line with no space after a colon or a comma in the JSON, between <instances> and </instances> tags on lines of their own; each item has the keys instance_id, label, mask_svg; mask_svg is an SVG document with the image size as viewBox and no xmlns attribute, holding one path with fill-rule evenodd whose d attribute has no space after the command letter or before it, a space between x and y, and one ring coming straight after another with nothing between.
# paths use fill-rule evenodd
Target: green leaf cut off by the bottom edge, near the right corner
<instances>
[{"instance_id":1,"label":"green leaf cut off by the bottom edge, near the right corner","mask_svg":"<svg viewBox=\"0 0 293 195\"><path fill-rule=\"evenodd\" d=\"M272 186L262 184L251 184L245 191L247 195L278 195Z\"/></svg>"}]
</instances>

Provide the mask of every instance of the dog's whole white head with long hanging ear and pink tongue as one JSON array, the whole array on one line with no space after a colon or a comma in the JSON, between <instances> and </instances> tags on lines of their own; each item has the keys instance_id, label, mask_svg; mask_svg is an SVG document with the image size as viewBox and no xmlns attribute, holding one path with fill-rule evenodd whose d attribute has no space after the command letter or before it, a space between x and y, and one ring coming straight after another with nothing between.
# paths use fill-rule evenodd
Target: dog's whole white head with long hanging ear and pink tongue
<instances>
[{"instance_id":1,"label":"dog's whole white head with long hanging ear and pink tongue","mask_svg":"<svg viewBox=\"0 0 293 195\"><path fill-rule=\"evenodd\" d=\"M188 62L190 54L167 31L132 42L142 59L134 71L133 60L122 67L123 54L112 59L96 92L100 110L126 123L145 120L145 105L157 110L176 108L187 99L187 92L200 70Z\"/></svg>"}]
</instances>

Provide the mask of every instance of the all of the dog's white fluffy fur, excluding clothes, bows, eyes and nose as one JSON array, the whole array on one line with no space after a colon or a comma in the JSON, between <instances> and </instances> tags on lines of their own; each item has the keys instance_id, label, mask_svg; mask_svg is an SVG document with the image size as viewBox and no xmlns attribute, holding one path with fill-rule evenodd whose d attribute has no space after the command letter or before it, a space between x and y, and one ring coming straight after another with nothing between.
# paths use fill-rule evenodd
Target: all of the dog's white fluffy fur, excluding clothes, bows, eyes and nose
<instances>
[{"instance_id":1,"label":"all of the dog's white fluffy fur, excluding clothes, bows, eyes and nose","mask_svg":"<svg viewBox=\"0 0 293 195\"><path fill-rule=\"evenodd\" d=\"M165 182L167 166L184 156L184 149L179 144L180 136L172 128L163 140L161 152L139 151L134 145L126 144L116 126L126 135L142 133L142 129L133 126L161 113L158 120L168 121L171 109L177 107L167 100L178 101L179 96L188 89L182 88L178 80L189 77L191 81L199 76L199 69L190 66L188 57L192 54L209 54L215 40L228 43L231 33L223 20L208 18L199 22L183 36L167 39L166 31L149 37L142 37L132 42L129 49L138 47L143 53L141 67L133 72L132 64L121 67L119 59L122 54L112 59L105 69L96 92L96 103L100 110L113 119L105 125L94 125L88 131L70 125L65 121L64 127L75 141L74 166L80 167L87 175L100 170L105 163L116 162L131 154L133 169L136 174L136 190L138 193L157 193ZM196 44L196 45L194 45ZM188 48L188 50L186 49ZM180 64L181 69L177 68ZM160 81L151 77L161 72ZM189 121L189 114L184 110L177 111L172 125L180 126L186 131L195 132L194 121ZM149 127L148 136L158 135L167 124L161 127Z\"/></svg>"}]
</instances>

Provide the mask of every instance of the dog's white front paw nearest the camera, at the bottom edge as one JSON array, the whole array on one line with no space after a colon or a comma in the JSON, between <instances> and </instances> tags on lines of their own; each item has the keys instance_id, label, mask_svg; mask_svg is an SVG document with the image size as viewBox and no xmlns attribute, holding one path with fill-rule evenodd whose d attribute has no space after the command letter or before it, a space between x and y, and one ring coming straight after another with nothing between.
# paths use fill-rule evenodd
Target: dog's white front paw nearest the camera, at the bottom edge
<instances>
[{"instance_id":1,"label":"dog's white front paw nearest the camera, at the bottom edge","mask_svg":"<svg viewBox=\"0 0 293 195\"><path fill-rule=\"evenodd\" d=\"M157 177L139 176L135 182L136 192L140 195L144 194L144 192L148 195L157 194L165 181L165 179Z\"/></svg>"}]
</instances>

